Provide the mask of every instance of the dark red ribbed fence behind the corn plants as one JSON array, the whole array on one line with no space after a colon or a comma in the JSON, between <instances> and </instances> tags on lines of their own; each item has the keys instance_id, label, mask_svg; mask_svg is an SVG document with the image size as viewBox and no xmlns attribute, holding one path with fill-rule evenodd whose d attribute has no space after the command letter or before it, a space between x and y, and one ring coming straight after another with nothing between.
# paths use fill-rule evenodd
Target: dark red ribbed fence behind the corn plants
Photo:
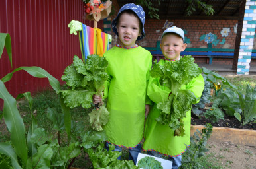
<instances>
[{"instance_id":1,"label":"dark red ribbed fence behind the corn plants","mask_svg":"<svg viewBox=\"0 0 256 169\"><path fill-rule=\"evenodd\" d=\"M13 67L6 50L3 51L0 79L17 67L38 66L63 83L60 78L66 66L72 63L74 55L81 57L78 35L69 33L69 22L78 20L94 26L92 21L83 19L82 0L0 1L0 32L10 34L13 51ZM97 26L102 30L103 21ZM49 83L18 71L5 86L16 97L48 87Z\"/></svg>"}]
</instances>

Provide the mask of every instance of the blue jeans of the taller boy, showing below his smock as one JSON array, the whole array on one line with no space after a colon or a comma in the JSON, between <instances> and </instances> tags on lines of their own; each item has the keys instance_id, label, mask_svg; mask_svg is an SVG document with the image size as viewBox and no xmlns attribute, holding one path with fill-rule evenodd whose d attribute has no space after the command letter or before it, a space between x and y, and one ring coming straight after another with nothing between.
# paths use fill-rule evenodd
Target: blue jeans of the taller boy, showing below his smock
<instances>
[{"instance_id":1,"label":"blue jeans of the taller boy, showing below his smock","mask_svg":"<svg viewBox=\"0 0 256 169\"><path fill-rule=\"evenodd\" d=\"M106 142L105 149L107 149L107 151L109 151L109 146L108 145L110 145L110 143ZM122 147L119 147L119 146L115 145L114 151L121 152ZM128 159L133 160L134 164L136 164L139 152L141 152L141 144L137 145L137 147L129 149L129 158ZM119 156L117 159L120 160L121 156Z\"/></svg>"}]
</instances>

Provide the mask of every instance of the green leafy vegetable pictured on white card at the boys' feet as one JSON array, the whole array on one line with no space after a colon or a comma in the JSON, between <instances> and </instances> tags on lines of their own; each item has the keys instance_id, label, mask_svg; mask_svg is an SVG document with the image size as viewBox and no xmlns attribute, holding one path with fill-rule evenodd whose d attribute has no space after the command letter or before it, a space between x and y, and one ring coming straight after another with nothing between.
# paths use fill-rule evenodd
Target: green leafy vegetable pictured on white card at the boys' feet
<instances>
[{"instance_id":1,"label":"green leafy vegetable pictured on white card at the boys' feet","mask_svg":"<svg viewBox=\"0 0 256 169\"><path fill-rule=\"evenodd\" d=\"M143 169L151 169L151 168L162 169L161 162L159 162L158 160L155 160L154 157L149 157L149 156L146 156L141 160L139 160L138 166L139 168L143 168Z\"/></svg>"}]
</instances>

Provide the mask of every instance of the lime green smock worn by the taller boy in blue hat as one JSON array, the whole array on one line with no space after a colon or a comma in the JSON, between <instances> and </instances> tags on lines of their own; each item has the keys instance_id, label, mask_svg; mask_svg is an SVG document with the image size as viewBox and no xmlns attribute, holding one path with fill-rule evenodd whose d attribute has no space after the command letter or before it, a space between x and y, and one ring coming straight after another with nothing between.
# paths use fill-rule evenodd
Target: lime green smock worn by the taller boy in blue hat
<instances>
[{"instance_id":1,"label":"lime green smock worn by the taller boy in blue hat","mask_svg":"<svg viewBox=\"0 0 256 169\"><path fill-rule=\"evenodd\" d=\"M110 112L104 128L107 141L121 147L136 147L143 139L152 55L140 46L130 49L115 46L104 56L109 62L109 80L104 91Z\"/></svg>"}]
</instances>

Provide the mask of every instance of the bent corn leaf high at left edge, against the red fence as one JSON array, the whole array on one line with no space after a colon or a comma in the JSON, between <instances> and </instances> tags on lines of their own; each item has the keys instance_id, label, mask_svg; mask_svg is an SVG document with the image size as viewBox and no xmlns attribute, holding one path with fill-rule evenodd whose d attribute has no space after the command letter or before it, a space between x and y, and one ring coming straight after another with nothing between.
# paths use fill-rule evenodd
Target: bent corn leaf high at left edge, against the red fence
<instances>
[{"instance_id":1,"label":"bent corn leaf high at left edge, against the red fence","mask_svg":"<svg viewBox=\"0 0 256 169\"><path fill-rule=\"evenodd\" d=\"M12 52L11 52L11 37L9 34L0 33L0 59L3 54L4 47L6 48L7 54L9 56L11 67L13 67L13 59L12 59Z\"/></svg>"}]
</instances>

